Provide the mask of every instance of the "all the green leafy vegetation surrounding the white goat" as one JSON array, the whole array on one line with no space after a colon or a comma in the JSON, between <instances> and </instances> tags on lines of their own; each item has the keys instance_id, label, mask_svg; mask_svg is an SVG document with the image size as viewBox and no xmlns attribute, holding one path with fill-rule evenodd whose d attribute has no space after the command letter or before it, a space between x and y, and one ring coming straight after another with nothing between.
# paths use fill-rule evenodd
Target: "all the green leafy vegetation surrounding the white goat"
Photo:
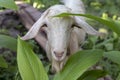
<instances>
[{"instance_id":1,"label":"all the green leafy vegetation surrounding the white goat","mask_svg":"<svg viewBox=\"0 0 120 80\"><path fill-rule=\"evenodd\" d=\"M41 9L59 3L57 0L25 0L34 7ZM17 51L17 61L15 56L11 56L9 62L6 53L0 53L0 79L4 80L96 80L100 77L110 75L113 80L120 79L120 1L115 0L83 0L87 13L92 14L70 14L63 13L55 17L63 16L84 16L87 21L105 35L101 37L88 36L84 45L84 50L78 51L67 61L64 69L55 75L50 74L50 63L43 60L45 55L38 45L31 40L22 41L19 37L0 34L0 49L5 48L7 54ZM8 4L8 0L1 0L1 4ZM36 6L35 6L36 4ZM41 5L41 6L40 6ZM111 6L111 8L109 8ZM4 8L17 10L13 0L9 0L9 5L1 5ZM3 10L3 8L1 8ZM93 16L96 15L96 16ZM98 16L98 17L97 17ZM96 22L97 21L97 22ZM14 46L11 46L14 45ZM37 48L35 53L33 49ZM9 49L9 50L7 50ZM40 57L38 57L40 56ZM39 60L39 58L41 60ZM18 64L18 67L17 67ZM23 65L24 64L24 65ZM37 65L37 66L36 66ZM103 70L88 70L94 65L103 67ZM10 74L12 73L12 75ZM70 73L70 74L69 74ZM12 78L11 78L12 76ZM14 76L14 77L13 77ZM69 76L69 77L68 77Z\"/></svg>"}]
</instances>

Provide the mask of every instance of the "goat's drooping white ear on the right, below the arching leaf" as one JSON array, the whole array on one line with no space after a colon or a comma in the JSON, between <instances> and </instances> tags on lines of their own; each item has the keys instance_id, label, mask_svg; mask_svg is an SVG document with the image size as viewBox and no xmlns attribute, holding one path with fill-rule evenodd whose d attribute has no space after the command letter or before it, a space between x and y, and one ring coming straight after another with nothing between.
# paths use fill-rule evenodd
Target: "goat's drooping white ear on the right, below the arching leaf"
<instances>
[{"instance_id":1,"label":"goat's drooping white ear on the right, below the arching leaf","mask_svg":"<svg viewBox=\"0 0 120 80\"><path fill-rule=\"evenodd\" d=\"M100 35L100 33L92 28L92 26L90 26L84 19L81 19L80 17L75 17L74 19L77 27L82 28L86 33L90 35Z\"/></svg>"}]
</instances>

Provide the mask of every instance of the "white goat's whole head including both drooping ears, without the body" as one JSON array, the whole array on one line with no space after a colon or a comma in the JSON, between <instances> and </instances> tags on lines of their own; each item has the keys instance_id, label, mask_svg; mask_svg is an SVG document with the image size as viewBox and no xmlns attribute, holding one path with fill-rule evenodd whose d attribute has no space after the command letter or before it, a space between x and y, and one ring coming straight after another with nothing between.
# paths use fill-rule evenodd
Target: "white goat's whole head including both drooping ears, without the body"
<instances>
[{"instance_id":1,"label":"white goat's whole head including both drooping ears, without the body","mask_svg":"<svg viewBox=\"0 0 120 80\"><path fill-rule=\"evenodd\" d=\"M40 19L32 26L28 33L22 37L23 40L34 38L39 30L44 27L47 34L50 53L57 61L66 57L68 43L71 35L72 25L82 27L86 33L98 34L90 25L79 17L53 17L60 13L71 12L70 8L64 5L56 5L46 10Z\"/></svg>"}]
</instances>

